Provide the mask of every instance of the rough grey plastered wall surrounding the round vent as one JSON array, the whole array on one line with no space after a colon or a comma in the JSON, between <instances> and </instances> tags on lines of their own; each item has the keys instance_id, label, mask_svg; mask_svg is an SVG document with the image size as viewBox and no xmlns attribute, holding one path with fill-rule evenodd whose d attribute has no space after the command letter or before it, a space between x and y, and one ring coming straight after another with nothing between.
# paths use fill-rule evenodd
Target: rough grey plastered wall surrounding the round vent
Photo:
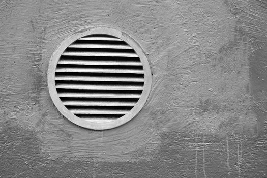
<instances>
[{"instance_id":1,"label":"rough grey plastered wall surrounding the round vent","mask_svg":"<svg viewBox=\"0 0 267 178\"><path fill-rule=\"evenodd\" d=\"M0 2L0 177L267 177L267 2ZM153 71L127 124L78 127L47 67L73 32L133 37Z\"/></svg>"}]
</instances>

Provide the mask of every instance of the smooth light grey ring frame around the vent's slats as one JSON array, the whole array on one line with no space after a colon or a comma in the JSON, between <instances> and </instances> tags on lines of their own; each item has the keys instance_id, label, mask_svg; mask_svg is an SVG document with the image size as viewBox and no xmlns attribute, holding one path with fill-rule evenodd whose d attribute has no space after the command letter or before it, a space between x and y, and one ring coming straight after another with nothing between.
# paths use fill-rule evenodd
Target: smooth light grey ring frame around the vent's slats
<instances>
[{"instance_id":1,"label":"smooth light grey ring frame around the vent's slats","mask_svg":"<svg viewBox=\"0 0 267 178\"><path fill-rule=\"evenodd\" d=\"M58 96L56 85L55 85L55 71L57 67L57 63L60 60L63 52L68 48L76 40L88 36L88 35L95 35L95 34L104 34L104 35L111 35L117 38L122 39L126 42L130 47L132 47L135 53L139 56L139 59L142 63L143 71L144 71L144 84L143 90L139 100L137 101L136 105L128 111L125 115L115 120L110 121L102 121L102 122L93 122L90 120L85 120L84 118L80 118L74 115L70 110L63 104L60 97ZM81 31L73 33L71 36L66 38L53 52L47 72L47 82L48 82L48 90L50 97L56 106L57 110L60 111L69 121L72 123L87 129L92 130L106 130L116 128L121 126L137 115L140 110L143 108L147 98L150 95L151 85L152 85L152 72L149 64L149 60L145 55L145 52L141 48L141 46L129 35L126 33L119 31L114 28L106 27L106 26L97 26L97 27L88 27L84 28Z\"/></svg>"}]
</instances>

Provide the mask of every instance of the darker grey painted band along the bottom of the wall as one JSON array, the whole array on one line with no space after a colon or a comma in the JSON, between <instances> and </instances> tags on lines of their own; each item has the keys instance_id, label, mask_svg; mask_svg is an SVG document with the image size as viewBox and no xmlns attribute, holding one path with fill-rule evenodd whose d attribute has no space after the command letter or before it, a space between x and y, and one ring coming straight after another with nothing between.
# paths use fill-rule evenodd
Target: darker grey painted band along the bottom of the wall
<instances>
[{"instance_id":1,"label":"darker grey painted band along the bottom of the wall","mask_svg":"<svg viewBox=\"0 0 267 178\"><path fill-rule=\"evenodd\" d=\"M99 162L90 155L82 160L50 159L41 154L41 141L32 130L14 124L0 133L0 177L265 177L266 138L245 135L195 135L165 132L158 152L138 161ZM149 147L147 147L147 150ZM144 151L144 153L147 151ZM216 165L216 166L214 166Z\"/></svg>"}]
</instances>

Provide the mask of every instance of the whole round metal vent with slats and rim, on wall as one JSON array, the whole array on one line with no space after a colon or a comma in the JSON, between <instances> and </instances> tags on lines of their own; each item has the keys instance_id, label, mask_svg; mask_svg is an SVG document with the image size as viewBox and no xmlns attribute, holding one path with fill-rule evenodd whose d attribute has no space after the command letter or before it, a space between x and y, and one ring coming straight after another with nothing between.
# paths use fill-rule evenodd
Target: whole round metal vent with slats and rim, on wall
<instances>
[{"instance_id":1,"label":"whole round metal vent with slats and rim, on wall","mask_svg":"<svg viewBox=\"0 0 267 178\"><path fill-rule=\"evenodd\" d=\"M149 62L137 42L108 27L87 28L64 40L51 57L48 87L71 122L103 130L130 121L151 88Z\"/></svg>"}]
</instances>

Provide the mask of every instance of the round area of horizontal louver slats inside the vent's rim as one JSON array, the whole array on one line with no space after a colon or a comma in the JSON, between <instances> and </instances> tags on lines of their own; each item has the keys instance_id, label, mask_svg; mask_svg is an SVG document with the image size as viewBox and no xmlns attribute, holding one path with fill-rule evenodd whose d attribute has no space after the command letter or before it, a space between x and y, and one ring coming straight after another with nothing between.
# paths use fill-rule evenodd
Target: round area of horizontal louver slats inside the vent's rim
<instances>
[{"instance_id":1,"label":"round area of horizontal louver slats inside the vent's rim","mask_svg":"<svg viewBox=\"0 0 267 178\"><path fill-rule=\"evenodd\" d=\"M86 121L109 122L127 114L144 86L139 56L110 35L90 35L69 45L55 69L55 88L63 105Z\"/></svg>"}]
</instances>

